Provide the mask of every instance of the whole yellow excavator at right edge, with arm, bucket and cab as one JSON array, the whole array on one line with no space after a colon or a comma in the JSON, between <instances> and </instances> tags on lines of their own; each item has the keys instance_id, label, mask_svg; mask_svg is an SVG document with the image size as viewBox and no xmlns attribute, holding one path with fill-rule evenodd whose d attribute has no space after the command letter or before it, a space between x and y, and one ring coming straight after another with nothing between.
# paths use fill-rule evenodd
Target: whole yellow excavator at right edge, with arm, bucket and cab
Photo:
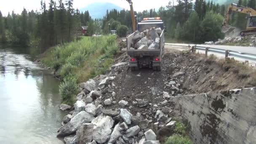
<instances>
[{"instance_id":1,"label":"whole yellow excavator at right edge, with arm, bucket and cab","mask_svg":"<svg viewBox=\"0 0 256 144\"><path fill-rule=\"evenodd\" d=\"M235 3L232 3L228 6L226 16L224 18L224 21L222 23L222 32L225 34L228 34L229 32L232 32L232 30L235 29L235 27L229 27L228 21L229 21L229 15L232 13L232 11L238 12L238 13L245 13L250 16L247 16L246 20L246 30L243 30L240 32L240 35L253 35L256 34L256 11L252 8L247 8L242 5L237 5Z\"/></svg>"}]
</instances>

